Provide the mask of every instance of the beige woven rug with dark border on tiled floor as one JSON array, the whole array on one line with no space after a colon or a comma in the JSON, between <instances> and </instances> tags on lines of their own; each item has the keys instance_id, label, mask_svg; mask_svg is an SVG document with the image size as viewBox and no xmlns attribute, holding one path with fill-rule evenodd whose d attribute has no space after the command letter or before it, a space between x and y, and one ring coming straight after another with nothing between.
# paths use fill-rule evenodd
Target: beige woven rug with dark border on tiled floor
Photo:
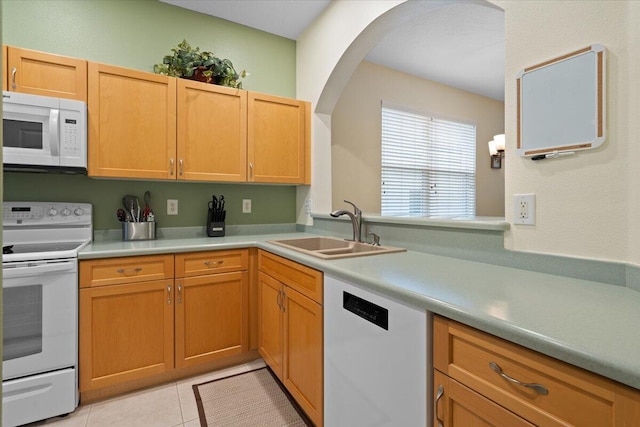
<instances>
[{"instance_id":1,"label":"beige woven rug with dark border on tiled floor","mask_svg":"<svg viewBox=\"0 0 640 427\"><path fill-rule=\"evenodd\" d=\"M312 425L268 368L195 384L193 391L203 427Z\"/></svg>"}]
</instances>

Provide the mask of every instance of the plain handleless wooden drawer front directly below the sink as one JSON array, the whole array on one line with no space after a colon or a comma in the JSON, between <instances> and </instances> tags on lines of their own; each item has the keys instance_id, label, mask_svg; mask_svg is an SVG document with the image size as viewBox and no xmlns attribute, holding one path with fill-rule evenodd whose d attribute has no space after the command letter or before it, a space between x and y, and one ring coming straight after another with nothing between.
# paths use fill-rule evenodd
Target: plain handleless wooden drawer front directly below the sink
<instances>
[{"instance_id":1,"label":"plain handleless wooden drawer front directly below the sink","mask_svg":"<svg viewBox=\"0 0 640 427\"><path fill-rule=\"evenodd\" d=\"M322 304L322 272L265 251L258 254L258 270Z\"/></svg>"}]
</instances>

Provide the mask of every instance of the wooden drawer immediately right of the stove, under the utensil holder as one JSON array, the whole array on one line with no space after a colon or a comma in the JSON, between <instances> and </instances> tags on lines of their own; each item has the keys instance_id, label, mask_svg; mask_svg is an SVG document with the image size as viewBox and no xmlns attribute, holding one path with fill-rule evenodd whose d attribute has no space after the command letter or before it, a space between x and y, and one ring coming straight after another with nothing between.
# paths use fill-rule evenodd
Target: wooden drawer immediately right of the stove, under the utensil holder
<instances>
[{"instance_id":1,"label":"wooden drawer immediately right of the stove, under the utensil holder","mask_svg":"<svg viewBox=\"0 0 640 427\"><path fill-rule=\"evenodd\" d=\"M81 288L172 278L173 255L80 261Z\"/></svg>"}]
</instances>

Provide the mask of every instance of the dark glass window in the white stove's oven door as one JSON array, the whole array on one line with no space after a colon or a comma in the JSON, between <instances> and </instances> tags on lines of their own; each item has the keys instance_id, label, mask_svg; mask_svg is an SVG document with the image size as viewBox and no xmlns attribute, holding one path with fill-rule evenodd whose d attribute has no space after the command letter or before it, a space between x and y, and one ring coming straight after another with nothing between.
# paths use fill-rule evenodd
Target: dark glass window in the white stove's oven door
<instances>
[{"instance_id":1,"label":"dark glass window in the white stove's oven door","mask_svg":"<svg viewBox=\"0 0 640 427\"><path fill-rule=\"evenodd\" d=\"M2 322L2 361L41 353L42 285L4 289Z\"/></svg>"}]
</instances>

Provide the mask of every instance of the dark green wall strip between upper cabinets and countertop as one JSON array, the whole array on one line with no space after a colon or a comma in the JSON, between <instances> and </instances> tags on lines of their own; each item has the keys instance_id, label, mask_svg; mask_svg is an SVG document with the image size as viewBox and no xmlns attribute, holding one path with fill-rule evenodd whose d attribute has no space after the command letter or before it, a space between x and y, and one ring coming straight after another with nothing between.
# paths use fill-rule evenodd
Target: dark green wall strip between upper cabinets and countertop
<instances>
[{"instance_id":1,"label":"dark green wall strip between upper cabinets and countertop","mask_svg":"<svg viewBox=\"0 0 640 427\"><path fill-rule=\"evenodd\" d=\"M93 204L96 230L119 228L116 209L122 196L151 192L159 227L204 226L212 195L224 195L227 224L295 222L296 189L292 186L217 184L92 179L84 175L5 173L4 200L84 202ZM167 199L178 200L178 215L167 216ZM242 199L251 199L252 213L242 213ZM258 218L256 220L256 218Z\"/></svg>"}]
</instances>

